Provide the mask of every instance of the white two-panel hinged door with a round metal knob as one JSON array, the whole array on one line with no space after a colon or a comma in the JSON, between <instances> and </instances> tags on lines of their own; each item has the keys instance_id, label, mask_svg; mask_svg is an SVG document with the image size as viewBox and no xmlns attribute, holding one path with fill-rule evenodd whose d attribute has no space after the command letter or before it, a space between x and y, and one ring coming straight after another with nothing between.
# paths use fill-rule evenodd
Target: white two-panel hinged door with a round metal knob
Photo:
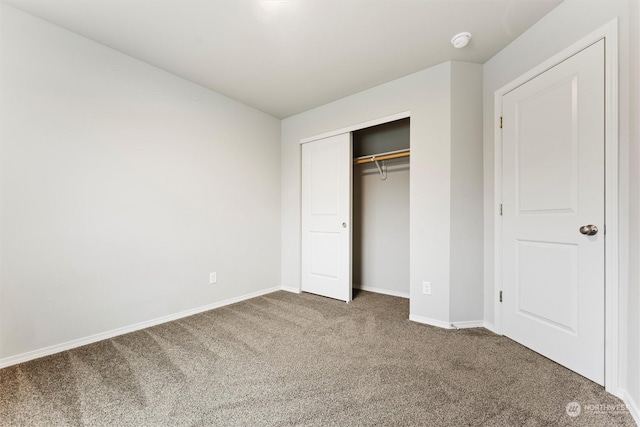
<instances>
[{"instance_id":1,"label":"white two-panel hinged door with a round metal knob","mask_svg":"<svg viewBox=\"0 0 640 427\"><path fill-rule=\"evenodd\" d=\"M504 334L599 384L604 82L601 40L502 101Z\"/></svg>"}]
</instances>

